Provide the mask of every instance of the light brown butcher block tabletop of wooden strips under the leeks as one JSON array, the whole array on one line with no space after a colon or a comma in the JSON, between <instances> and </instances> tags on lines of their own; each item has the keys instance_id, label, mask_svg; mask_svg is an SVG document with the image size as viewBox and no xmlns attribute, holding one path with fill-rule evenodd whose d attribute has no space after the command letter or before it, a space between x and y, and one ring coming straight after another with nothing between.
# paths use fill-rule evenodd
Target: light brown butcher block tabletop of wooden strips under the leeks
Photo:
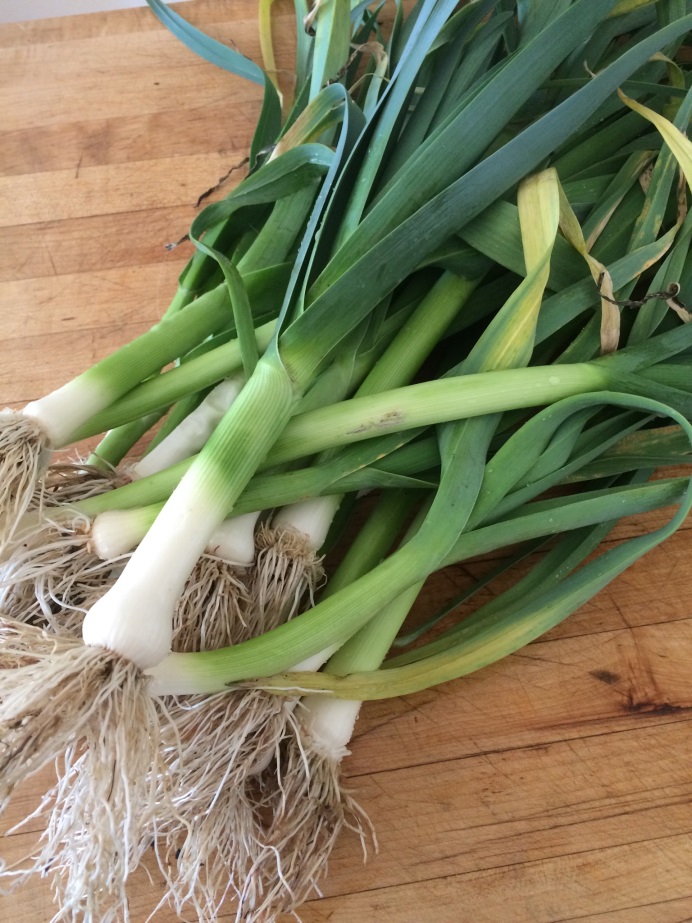
<instances>
[{"instance_id":1,"label":"light brown butcher block tabletop of wooden strips under the leeks","mask_svg":"<svg viewBox=\"0 0 692 923\"><path fill-rule=\"evenodd\" d=\"M180 10L260 60L255 0ZM292 4L278 11L281 36ZM3 26L0 61L0 400L19 407L159 317L190 253L164 245L244 158L261 96L146 8ZM286 50L279 66L290 71ZM609 541L664 518L630 520ZM379 854L364 865L345 836L304 923L692 920L690 526L525 650L364 707L345 772ZM440 576L419 614L488 564ZM18 793L5 828L46 782ZM3 859L30 850L36 829L0 841ZM132 881L133 923L162 893L153 864L150 875ZM53 912L44 880L0 897L2 920ZM234 917L229 905L219 919Z\"/></svg>"}]
</instances>

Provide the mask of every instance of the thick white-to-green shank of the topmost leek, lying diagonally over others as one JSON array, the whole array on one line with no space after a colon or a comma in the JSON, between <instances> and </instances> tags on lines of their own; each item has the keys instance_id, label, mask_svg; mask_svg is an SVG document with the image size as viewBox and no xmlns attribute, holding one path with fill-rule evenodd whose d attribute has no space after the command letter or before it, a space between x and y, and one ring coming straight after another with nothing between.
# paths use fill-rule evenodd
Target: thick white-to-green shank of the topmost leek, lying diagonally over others
<instances>
[{"instance_id":1,"label":"thick white-to-green shank of the topmost leek, lying diagonally over others","mask_svg":"<svg viewBox=\"0 0 692 923\"><path fill-rule=\"evenodd\" d=\"M265 356L128 561L86 614L83 638L146 670L171 650L173 613L198 558L289 419L294 386ZM264 426L258 427L258 419Z\"/></svg>"}]
</instances>

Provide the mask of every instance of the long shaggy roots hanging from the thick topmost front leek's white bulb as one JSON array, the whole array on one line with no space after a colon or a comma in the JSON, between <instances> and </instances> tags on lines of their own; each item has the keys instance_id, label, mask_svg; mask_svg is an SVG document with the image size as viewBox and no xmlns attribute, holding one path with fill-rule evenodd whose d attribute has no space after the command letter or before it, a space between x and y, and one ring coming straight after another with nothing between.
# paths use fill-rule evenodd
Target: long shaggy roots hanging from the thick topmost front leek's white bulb
<instances>
[{"instance_id":1,"label":"long shaggy roots hanging from the thick topmost front leek's white bulb","mask_svg":"<svg viewBox=\"0 0 692 923\"><path fill-rule=\"evenodd\" d=\"M37 629L15 627L20 659ZM6 634L11 635L11 628ZM58 781L41 808L46 830L30 864L4 870L25 880L50 873L54 920L129 920L125 883L150 846L155 811L169 792L161 709L148 679L102 648L56 639L0 673L0 803L26 776L56 760ZM7 646L7 645L5 645Z\"/></svg>"}]
</instances>

